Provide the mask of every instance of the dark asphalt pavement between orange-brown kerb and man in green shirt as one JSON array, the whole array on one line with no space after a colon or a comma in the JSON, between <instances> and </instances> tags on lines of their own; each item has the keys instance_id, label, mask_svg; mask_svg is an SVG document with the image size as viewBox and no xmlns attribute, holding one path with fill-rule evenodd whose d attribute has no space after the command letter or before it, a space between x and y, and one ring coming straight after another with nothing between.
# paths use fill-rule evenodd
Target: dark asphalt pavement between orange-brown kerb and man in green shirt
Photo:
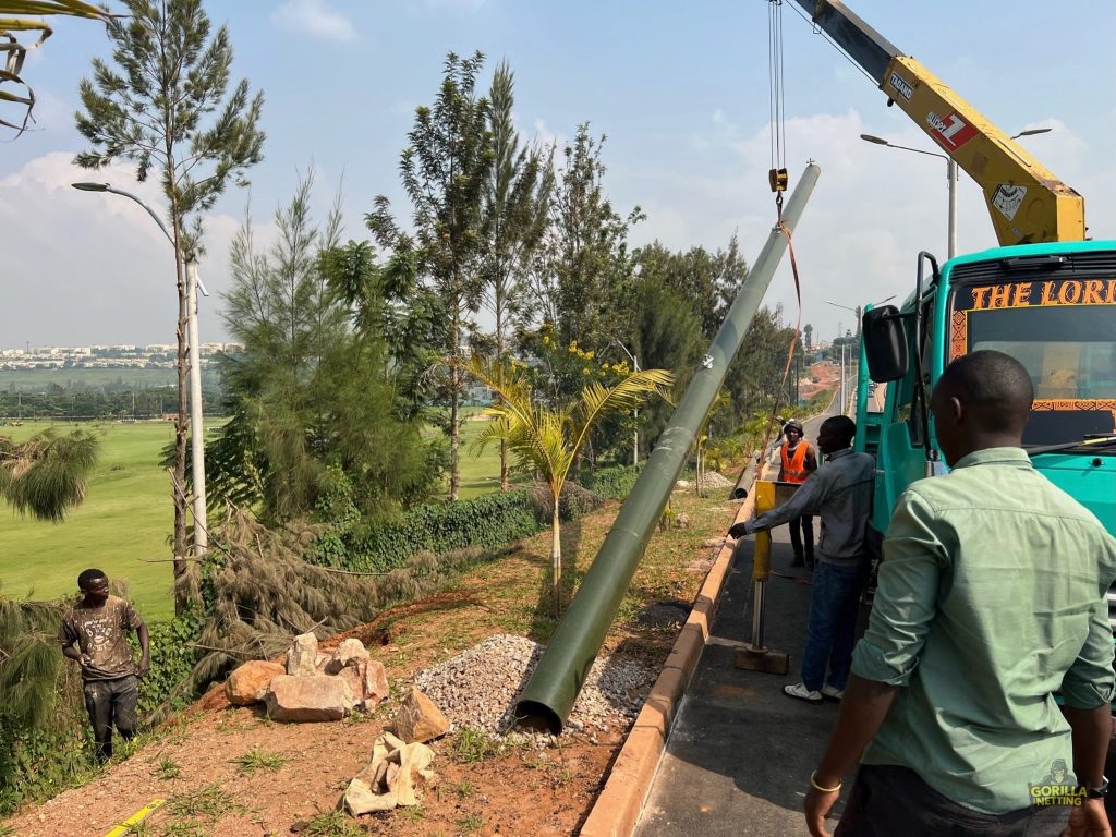
<instances>
[{"instance_id":1,"label":"dark asphalt pavement between orange-brown kerb and man in green shirt","mask_svg":"<svg viewBox=\"0 0 1116 837\"><path fill-rule=\"evenodd\" d=\"M810 587L788 568L787 528L772 535L764 641L790 654L786 676L742 671L735 648L751 635L752 540L741 541L710 642L686 690L636 829L639 837L806 834L802 799L837 718L837 704L782 694L799 679ZM837 812L839 812L839 807Z\"/></svg>"}]
</instances>

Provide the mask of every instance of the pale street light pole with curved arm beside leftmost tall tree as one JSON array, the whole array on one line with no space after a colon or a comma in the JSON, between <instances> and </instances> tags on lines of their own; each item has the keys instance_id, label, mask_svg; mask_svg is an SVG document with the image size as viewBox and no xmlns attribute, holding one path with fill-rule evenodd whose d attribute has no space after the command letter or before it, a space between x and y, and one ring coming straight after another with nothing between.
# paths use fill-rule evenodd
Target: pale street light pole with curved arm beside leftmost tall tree
<instances>
[{"instance_id":1,"label":"pale street light pole with curved arm beside leftmost tall tree","mask_svg":"<svg viewBox=\"0 0 1116 837\"><path fill-rule=\"evenodd\" d=\"M140 198L114 189L107 183L73 183L74 189L83 192L112 192L135 201L152 217L166 240L174 247L174 239L166 231L163 221L155 211ZM186 254L186 364L190 367L190 445L191 466L193 471L193 516L194 516L194 557L204 558L209 550L209 527L205 512L205 430L202 423L202 365L201 343L198 337L198 290L209 296L205 286L198 276L198 261L193 253ZM162 413L162 406L160 413Z\"/></svg>"}]
</instances>

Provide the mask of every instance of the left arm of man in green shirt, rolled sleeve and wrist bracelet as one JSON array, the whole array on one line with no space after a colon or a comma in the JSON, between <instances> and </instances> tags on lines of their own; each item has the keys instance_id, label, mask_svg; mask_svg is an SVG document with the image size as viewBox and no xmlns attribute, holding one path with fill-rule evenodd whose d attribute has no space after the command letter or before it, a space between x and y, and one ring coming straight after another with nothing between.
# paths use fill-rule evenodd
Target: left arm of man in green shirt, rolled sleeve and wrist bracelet
<instances>
[{"instance_id":1,"label":"left arm of man in green shirt, rolled sleeve and wrist bracelet","mask_svg":"<svg viewBox=\"0 0 1116 837\"><path fill-rule=\"evenodd\" d=\"M840 785L887 716L901 686L918 665L935 614L944 546L932 529L933 510L917 494L899 498L884 541L879 587L868 631L853 655L853 676L841 701L829 745L806 796L806 825L828 834L825 817ZM821 788L835 788L821 792Z\"/></svg>"}]
</instances>

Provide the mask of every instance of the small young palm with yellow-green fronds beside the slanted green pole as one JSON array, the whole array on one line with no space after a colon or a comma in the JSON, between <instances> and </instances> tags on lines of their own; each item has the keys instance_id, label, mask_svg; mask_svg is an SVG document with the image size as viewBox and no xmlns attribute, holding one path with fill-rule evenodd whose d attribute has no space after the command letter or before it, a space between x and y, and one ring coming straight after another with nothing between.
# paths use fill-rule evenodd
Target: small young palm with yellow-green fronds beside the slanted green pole
<instances>
[{"instance_id":1,"label":"small young palm with yellow-green fronds beside the slanted green pole","mask_svg":"<svg viewBox=\"0 0 1116 837\"><path fill-rule=\"evenodd\" d=\"M503 441L508 452L521 465L542 475L550 489L554 519L551 522L550 568L556 613L561 612L561 531L558 520L558 498L566 477L585 444L593 424L607 413L634 410L651 393L665 395L674 376L665 369L643 369L624 377L613 386L589 383L580 395L557 408L537 401L530 381L521 365L506 364L473 355L458 364L492 389L500 401L484 410L492 421L473 442L479 453L485 445Z\"/></svg>"}]
</instances>

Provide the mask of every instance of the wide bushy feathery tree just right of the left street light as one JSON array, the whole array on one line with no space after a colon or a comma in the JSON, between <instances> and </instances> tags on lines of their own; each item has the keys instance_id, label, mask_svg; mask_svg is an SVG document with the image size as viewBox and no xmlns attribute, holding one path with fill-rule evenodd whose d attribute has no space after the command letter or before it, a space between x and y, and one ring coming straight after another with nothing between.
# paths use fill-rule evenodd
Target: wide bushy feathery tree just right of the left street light
<instances>
[{"instance_id":1,"label":"wide bushy feathery tree just right of the left street light","mask_svg":"<svg viewBox=\"0 0 1116 837\"><path fill-rule=\"evenodd\" d=\"M209 446L210 494L267 522L312 514L331 470L369 518L424 499L433 482L421 415L393 381L406 356L388 350L400 305L385 292L389 271L367 242L339 242L336 203L314 220L310 187L308 176L276 211L270 252L257 252L246 217L230 253L224 317L244 349L223 360L232 417Z\"/></svg>"}]
</instances>

